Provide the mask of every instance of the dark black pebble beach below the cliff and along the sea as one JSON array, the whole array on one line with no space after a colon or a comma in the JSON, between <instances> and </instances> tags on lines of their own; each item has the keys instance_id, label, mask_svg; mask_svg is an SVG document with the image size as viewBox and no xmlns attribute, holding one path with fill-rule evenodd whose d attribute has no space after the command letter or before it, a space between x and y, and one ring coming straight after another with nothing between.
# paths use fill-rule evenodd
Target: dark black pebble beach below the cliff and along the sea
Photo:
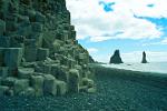
<instances>
[{"instance_id":1,"label":"dark black pebble beach below the cliff and along the sea","mask_svg":"<svg viewBox=\"0 0 167 111\"><path fill-rule=\"evenodd\" d=\"M0 98L0 111L167 111L167 75L95 67L97 93Z\"/></svg>"}]
</instances>

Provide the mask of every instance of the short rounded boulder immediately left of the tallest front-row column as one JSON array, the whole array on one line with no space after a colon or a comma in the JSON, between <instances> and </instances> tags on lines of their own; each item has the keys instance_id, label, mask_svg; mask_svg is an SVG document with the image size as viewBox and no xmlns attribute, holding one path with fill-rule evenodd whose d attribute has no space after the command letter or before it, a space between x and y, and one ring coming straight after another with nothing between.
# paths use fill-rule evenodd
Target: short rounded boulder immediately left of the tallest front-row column
<instances>
[{"instance_id":1,"label":"short rounded boulder immediately left of the tallest front-row column","mask_svg":"<svg viewBox=\"0 0 167 111\"><path fill-rule=\"evenodd\" d=\"M65 95L68 91L67 83L65 81L56 80L57 95Z\"/></svg>"}]
</instances>

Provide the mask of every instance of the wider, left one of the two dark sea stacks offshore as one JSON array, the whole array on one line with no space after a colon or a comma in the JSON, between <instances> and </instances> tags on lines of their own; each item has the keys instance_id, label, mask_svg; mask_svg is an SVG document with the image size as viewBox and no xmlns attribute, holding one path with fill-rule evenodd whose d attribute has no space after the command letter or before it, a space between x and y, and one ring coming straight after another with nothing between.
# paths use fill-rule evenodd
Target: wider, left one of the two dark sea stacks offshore
<instances>
[{"instance_id":1,"label":"wider, left one of the two dark sea stacks offshore","mask_svg":"<svg viewBox=\"0 0 167 111\"><path fill-rule=\"evenodd\" d=\"M124 63L121 58L120 58L120 53L119 53L119 50L116 50L114 56L110 58L110 62L109 63Z\"/></svg>"}]
</instances>

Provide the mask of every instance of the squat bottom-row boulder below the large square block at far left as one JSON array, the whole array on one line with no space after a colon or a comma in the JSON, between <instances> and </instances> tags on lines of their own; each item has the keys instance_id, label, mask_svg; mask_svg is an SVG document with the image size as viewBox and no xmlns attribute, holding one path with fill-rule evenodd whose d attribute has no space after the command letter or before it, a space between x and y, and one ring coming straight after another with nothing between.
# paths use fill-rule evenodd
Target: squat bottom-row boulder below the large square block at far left
<instances>
[{"instance_id":1,"label":"squat bottom-row boulder below the large square block at far left","mask_svg":"<svg viewBox=\"0 0 167 111\"><path fill-rule=\"evenodd\" d=\"M29 87L28 79L20 79L14 82L13 90L14 94L19 94L20 92L24 91Z\"/></svg>"}]
</instances>

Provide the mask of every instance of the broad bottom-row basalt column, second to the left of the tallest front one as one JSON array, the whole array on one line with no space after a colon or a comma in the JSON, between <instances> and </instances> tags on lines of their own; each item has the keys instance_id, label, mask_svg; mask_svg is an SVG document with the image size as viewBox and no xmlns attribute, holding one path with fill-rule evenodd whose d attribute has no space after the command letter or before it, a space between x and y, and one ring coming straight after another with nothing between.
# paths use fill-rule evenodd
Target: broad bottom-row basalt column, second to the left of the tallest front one
<instances>
[{"instance_id":1,"label":"broad bottom-row basalt column, second to the left of the tallest front one","mask_svg":"<svg viewBox=\"0 0 167 111\"><path fill-rule=\"evenodd\" d=\"M45 74L43 93L46 95L57 95L56 79L51 74Z\"/></svg>"}]
</instances>

